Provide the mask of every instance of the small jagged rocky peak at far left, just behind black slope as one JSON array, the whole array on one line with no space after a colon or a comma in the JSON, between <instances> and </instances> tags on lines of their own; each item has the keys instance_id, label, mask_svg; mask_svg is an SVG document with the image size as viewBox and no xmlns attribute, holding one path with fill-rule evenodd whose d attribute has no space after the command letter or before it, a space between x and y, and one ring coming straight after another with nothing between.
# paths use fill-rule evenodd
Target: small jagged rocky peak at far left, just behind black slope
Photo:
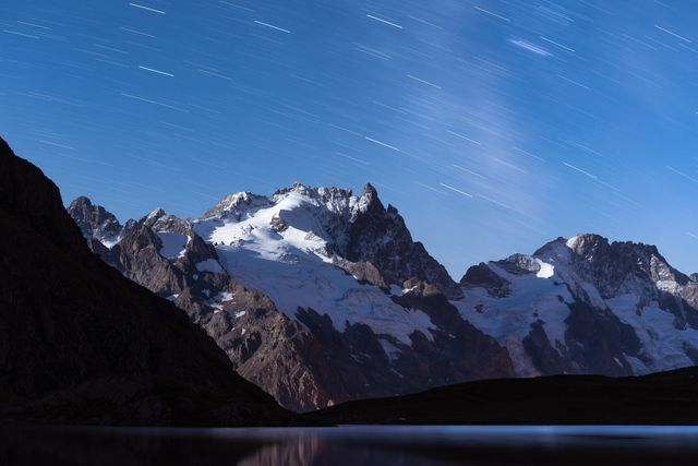
<instances>
[{"instance_id":1,"label":"small jagged rocky peak at far left, just behind black slope","mask_svg":"<svg viewBox=\"0 0 698 466\"><path fill-rule=\"evenodd\" d=\"M86 239L96 239L107 248L119 242L123 227L112 213L93 204L89 198L81 195L75 199L68 207L68 213Z\"/></svg>"}]
</instances>

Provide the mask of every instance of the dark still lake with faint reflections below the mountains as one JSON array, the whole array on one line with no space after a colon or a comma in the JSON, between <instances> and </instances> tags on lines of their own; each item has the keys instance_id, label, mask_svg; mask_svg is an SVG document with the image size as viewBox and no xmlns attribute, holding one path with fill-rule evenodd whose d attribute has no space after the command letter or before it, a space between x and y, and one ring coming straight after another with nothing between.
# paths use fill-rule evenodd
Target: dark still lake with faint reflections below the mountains
<instances>
[{"instance_id":1,"label":"dark still lake with faint reflections below the mountains","mask_svg":"<svg viewBox=\"0 0 698 466\"><path fill-rule=\"evenodd\" d=\"M693 427L0 428L1 465L678 465Z\"/></svg>"}]
</instances>

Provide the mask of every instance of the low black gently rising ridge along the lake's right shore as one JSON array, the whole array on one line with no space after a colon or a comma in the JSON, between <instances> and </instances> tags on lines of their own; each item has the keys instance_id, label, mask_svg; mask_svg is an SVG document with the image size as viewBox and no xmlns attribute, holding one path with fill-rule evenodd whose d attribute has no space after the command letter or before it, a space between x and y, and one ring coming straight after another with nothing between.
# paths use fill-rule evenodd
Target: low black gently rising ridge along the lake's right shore
<instances>
[{"instance_id":1,"label":"low black gently rising ridge along the lake's right shore","mask_svg":"<svg viewBox=\"0 0 698 466\"><path fill-rule=\"evenodd\" d=\"M349 402L305 415L327 423L698 425L698 368L643 377L554 375L469 382Z\"/></svg>"}]
</instances>

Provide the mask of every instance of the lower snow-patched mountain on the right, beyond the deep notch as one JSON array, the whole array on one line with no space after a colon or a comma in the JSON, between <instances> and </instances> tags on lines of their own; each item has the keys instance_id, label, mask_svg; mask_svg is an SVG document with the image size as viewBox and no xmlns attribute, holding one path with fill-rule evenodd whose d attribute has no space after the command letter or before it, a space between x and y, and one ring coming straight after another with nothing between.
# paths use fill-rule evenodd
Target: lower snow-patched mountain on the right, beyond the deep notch
<instances>
[{"instance_id":1,"label":"lower snow-patched mountain on the right, beyond the deep notch","mask_svg":"<svg viewBox=\"0 0 698 466\"><path fill-rule=\"evenodd\" d=\"M698 282L655 247L598 235L471 267L460 315L517 374L645 374L698 363Z\"/></svg>"}]
</instances>

